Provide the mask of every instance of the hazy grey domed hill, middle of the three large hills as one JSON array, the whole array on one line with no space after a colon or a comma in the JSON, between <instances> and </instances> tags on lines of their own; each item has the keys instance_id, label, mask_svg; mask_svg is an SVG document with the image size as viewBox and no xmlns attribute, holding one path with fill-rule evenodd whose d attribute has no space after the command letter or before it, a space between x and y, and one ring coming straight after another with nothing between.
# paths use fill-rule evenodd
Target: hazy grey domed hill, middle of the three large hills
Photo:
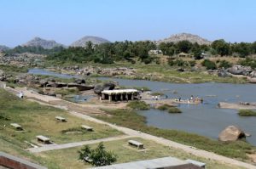
<instances>
[{"instance_id":1,"label":"hazy grey domed hill, middle of the three large hills","mask_svg":"<svg viewBox=\"0 0 256 169\"><path fill-rule=\"evenodd\" d=\"M93 37L93 36L85 36L79 39L76 42L73 42L70 46L72 47L85 47L86 42L92 42L93 44L101 44L104 42L109 42L107 39L102 37Z\"/></svg>"}]
</instances>

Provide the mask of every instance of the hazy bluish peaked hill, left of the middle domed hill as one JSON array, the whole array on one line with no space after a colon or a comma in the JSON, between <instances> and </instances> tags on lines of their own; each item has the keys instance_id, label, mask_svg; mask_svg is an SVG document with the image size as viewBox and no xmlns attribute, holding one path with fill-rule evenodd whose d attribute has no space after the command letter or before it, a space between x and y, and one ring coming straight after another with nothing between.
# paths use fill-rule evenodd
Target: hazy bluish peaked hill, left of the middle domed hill
<instances>
[{"instance_id":1,"label":"hazy bluish peaked hill, left of the middle domed hill","mask_svg":"<svg viewBox=\"0 0 256 169\"><path fill-rule=\"evenodd\" d=\"M35 37L31 41L22 44L22 46L27 47L43 47L43 48L55 48L55 47L64 47L61 43L57 43L53 40L45 40L40 37Z\"/></svg>"}]
</instances>

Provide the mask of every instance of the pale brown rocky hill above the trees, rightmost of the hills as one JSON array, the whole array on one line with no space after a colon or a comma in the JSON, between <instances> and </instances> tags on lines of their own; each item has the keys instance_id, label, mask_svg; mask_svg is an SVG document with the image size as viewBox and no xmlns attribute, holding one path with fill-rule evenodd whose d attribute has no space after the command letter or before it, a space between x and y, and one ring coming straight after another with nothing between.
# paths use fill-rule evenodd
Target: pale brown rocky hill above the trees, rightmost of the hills
<instances>
[{"instance_id":1,"label":"pale brown rocky hill above the trees, rightmost of the hills","mask_svg":"<svg viewBox=\"0 0 256 169\"><path fill-rule=\"evenodd\" d=\"M212 42L208 41L207 39L204 39L202 37L199 37L197 35L192 35L189 33L180 33L176 35L172 35L171 37L168 37L166 39L160 40L157 43L159 44L160 42L180 42L180 41L189 41L192 43L197 42L198 44L207 44L210 45Z\"/></svg>"}]
</instances>

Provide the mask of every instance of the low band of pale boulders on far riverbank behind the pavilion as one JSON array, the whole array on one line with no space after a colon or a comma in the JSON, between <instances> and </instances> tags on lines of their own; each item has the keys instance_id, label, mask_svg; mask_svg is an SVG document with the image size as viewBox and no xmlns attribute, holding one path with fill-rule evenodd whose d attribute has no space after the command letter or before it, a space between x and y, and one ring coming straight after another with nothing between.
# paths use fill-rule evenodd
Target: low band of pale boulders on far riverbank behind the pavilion
<instances>
[{"instance_id":1,"label":"low band of pale boulders on far riverbank behind the pavilion","mask_svg":"<svg viewBox=\"0 0 256 169\"><path fill-rule=\"evenodd\" d=\"M104 76L133 76L136 75L136 70L127 67L118 67L118 68L100 68L87 66L80 68L79 66L68 66L60 69L63 72L69 72L76 75L90 76L91 74L99 74Z\"/></svg>"}]
</instances>

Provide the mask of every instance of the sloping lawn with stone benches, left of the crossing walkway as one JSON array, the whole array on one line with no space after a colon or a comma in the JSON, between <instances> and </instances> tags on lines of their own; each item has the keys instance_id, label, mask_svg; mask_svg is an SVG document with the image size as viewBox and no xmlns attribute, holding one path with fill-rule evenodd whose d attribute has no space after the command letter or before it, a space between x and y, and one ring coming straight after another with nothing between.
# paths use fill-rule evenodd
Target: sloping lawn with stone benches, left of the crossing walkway
<instances>
[{"instance_id":1,"label":"sloping lawn with stone benches, left of the crossing walkway","mask_svg":"<svg viewBox=\"0 0 256 169\"><path fill-rule=\"evenodd\" d=\"M6 126L1 130L0 137L8 139L10 143L15 143L22 148L29 147L25 141L37 144L37 135L44 135L56 144L66 144L121 134L111 127L80 119L64 110L19 99L3 89L0 89L0 107L2 108L0 115L3 116L0 119L0 124ZM67 122L56 121L55 116L57 115L65 117ZM6 121L5 118L8 118L9 121ZM25 132L15 132L10 123L19 123ZM62 132L81 125L93 127L95 131L84 134L63 134Z\"/></svg>"}]
</instances>

